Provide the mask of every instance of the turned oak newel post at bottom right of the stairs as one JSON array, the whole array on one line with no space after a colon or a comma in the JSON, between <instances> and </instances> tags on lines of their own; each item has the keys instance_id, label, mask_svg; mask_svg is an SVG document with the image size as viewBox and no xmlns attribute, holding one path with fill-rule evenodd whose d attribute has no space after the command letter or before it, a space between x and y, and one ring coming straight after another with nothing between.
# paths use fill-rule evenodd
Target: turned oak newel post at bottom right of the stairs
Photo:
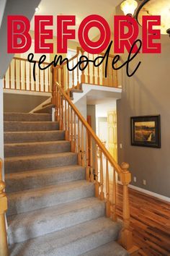
<instances>
[{"instance_id":1,"label":"turned oak newel post at bottom right of the stairs","mask_svg":"<svg viewBox=\"0 0 170 256\"><path fill-rule=\"evenodd\" d=\"M128 184L130 184L131 181L131 174L130 171L128 171L128 163L122 163L121 168L123 171L121 176L121 182L123 186L123 229L121 234L121 244L125 249L130 250L133 247L133 234L132 231L130 231L130 203L128 194Z\"/></svg>"}]
</instances>

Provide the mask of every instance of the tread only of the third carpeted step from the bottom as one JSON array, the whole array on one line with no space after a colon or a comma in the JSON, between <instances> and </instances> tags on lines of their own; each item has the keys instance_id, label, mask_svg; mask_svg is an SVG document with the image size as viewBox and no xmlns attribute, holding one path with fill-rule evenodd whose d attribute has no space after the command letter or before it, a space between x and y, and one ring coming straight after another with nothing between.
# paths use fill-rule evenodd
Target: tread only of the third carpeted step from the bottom
<instances>
[{"instance_id":1,"label":"tread only of the third carpeted step from the bottom","mask_svg":"<svg viewBox=\"0 0 170 256\"><path fill-rule=\"evenodd\" d=\"M104 208L104 202L95 197L88 197L49 208L34 210L29 213L19 213L8 217L9 229L20 229L22 226L30 227L32 223L38 224L45 219L50 222L56 218L63 218L66 214L72 214L82 209L95 208L99 205Z\"/></svg>"}]
</instances>

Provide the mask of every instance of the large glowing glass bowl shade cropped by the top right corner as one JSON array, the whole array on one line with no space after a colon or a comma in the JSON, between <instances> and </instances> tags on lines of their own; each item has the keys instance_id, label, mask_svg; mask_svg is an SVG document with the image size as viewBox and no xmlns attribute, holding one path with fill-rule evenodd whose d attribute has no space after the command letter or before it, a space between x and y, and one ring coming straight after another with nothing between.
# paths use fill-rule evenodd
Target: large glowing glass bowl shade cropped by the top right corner
<instances>
[{"instance_id":1,"label":"large glowing glass bowl shade cropped by the top right corner","mask_svg":"<svg viewBox=\"0 0 170 256\"><path fill-rule=\"evenodd\" d=\"M165 35L167 30L170 28L170 0L152 0L144 1L143 4L138 9L137 20L142 26L143 15L160 15L161 16L161 26L156 26L156 29L161 30L161 34Z\"/></svg>"}]
</instances>

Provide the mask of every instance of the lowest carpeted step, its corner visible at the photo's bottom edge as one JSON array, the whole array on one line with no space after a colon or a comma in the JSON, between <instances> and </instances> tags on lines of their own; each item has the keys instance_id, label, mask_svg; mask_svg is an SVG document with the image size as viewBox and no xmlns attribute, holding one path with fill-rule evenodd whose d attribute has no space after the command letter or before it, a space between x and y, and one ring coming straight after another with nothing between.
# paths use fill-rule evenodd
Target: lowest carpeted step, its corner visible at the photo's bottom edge
<instances>
[{"instance_id":1,"label":"lowest carpeted step, its corner visible at the photo's bottom edge","mask_svg":"<svg viewBox=\"0 0 170 256\"><path fill-rule=\"evenodd\" d=\"M85 252L81 256L128 256L128 252L117 244L117 242L109 242L104 244L97 249L92 249L89 252Z\"/></svg>"}]
</instances>

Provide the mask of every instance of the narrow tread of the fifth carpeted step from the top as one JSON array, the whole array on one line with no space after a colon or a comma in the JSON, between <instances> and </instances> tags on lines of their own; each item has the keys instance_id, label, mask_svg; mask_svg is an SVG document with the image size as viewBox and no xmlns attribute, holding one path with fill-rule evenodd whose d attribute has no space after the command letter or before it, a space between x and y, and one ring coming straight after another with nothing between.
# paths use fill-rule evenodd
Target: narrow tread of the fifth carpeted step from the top
<instances>
[{"instance_id":1,"label":"narrow tread of the fifth carpeted step from the top","mask_svg":"<svg viewBox=\"0 0 170 256\"><path fill-rule=\"evenodd\" d=\"M63 153L50 153L50 154L37 154L37 155L22 155L22 156L10 156L5 158L5 162L7 161L24 161L30 159L37 159L37 158L54 158L54 157L66 157L68 155L77 155L73 152L63 152Z\"/></svg>"}]
</instances>

